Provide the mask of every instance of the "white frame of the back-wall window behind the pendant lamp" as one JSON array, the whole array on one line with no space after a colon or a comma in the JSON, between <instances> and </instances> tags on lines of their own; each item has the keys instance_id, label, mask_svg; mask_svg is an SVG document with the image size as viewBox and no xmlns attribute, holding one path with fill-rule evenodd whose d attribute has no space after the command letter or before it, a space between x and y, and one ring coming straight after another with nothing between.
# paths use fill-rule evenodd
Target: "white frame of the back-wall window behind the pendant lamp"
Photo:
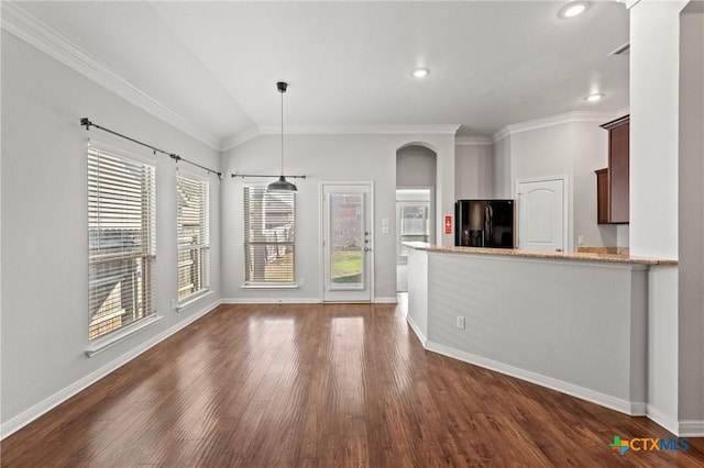
<instances>
[{"instance_id":1,"label":"white frame of the back-wall window behind the pendant lamp","mask_svg":"<svg viewBox=\"0 0 704 468\"><path fill-rule=\"evenodd\" d=\"M293 224L292 227L289 227L289 233L293 235L293 241L288 242L270 242L266 239L260 239L260 241L250 241L250 219L251 219L251 207L249 203L249 199L252 194L252 190L256 191L257 193L261 193L261 196L263 197L263 199L265 199L266 197L292 197L292 210L290 210L290 222ZM297 212L297 197L296 197L296 192L268 192L266 190L266 185L263 183L244 183L243 188L242 188L242 212L243 212L243 216L242 216L242 230L243 230L243 254L244 254L244 270L243 270L243 282L242 282L242 288L243 289L296 289L298 288L298 282L297 282L297 275L296 275L296 212ZM264 216L263 214L258 214L258 216ZM261 222L263 222L264 220L260 220ZM266 227L264 227L264 230L266 230ZM276 281L276 280L262 280L262 279L253 279L250 278L250 274L249 274L249 269L254 269L254 267L250 268L250 265L255 261L255 259L253 258L253 256L250 254L250 247L252 245L261 245L264 246L265 248L267 246L272 246L272 244L274 244L274 248L276 249L276 252L278 252L278 249L280 247L284 247L285 249L290 249L290 255L292 255L292 261L290 261L290 269L287 271L287 275L290 275L290 281ZM268 254L265 253L265 258L268 258ZM265 259L265 263L267 260ZM264 266L264 269L266 267ZM265 274L266 275L266 274Z\"/></svg>"}]
</instances>

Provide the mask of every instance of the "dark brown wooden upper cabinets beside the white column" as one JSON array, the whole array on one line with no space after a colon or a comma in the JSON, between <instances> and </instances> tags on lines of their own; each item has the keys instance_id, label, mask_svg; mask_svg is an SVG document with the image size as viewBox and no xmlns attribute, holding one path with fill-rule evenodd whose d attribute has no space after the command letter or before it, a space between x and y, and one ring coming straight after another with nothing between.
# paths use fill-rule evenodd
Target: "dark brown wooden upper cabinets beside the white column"
<instances>
[{"instance_id":1,"label":"dark brown wooden upper cabinets beside the white column","mask_svg":"<svg viewBox=\"0 0 704 468\"><path fill-rule=\"evenodd\" d=\"M608 223L613 224L628 223L629 119L630 116L626 115L602 125L602 129L608 131L608 170L606 171L608 210L606 219Z\"/></svg>"}]
</instances>

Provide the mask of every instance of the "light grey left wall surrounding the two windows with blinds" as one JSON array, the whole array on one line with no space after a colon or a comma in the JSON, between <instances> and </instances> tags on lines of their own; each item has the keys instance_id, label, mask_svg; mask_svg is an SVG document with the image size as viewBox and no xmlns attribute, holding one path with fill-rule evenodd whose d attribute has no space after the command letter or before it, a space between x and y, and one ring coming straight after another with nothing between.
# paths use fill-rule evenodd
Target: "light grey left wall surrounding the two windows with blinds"
<instances>
[{"instance_id":1,"label":"light grey left wall surrounding the two windows with blinds","mask_svg":"<svg viewBox=\"0 0 704 468\"><path fill-rule=\"evenodd\" d=\"M175 165L157 167L157 312L164 319L88 358L87 138L82 116L207 166L212 148L2 32L2 425L29 422L220 298L219 197L211 199L215 293L180 313L176 297ZM8 275L8 272L10 272Z\"/></svg>"}]
</instances>

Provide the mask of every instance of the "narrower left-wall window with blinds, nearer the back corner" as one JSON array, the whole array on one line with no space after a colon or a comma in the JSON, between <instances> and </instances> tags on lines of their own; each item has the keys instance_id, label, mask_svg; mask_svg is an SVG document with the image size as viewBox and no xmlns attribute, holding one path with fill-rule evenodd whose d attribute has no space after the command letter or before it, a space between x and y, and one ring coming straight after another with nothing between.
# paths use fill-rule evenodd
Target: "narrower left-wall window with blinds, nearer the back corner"
<instances>
[{"instance_id":1,"label":"narrower left-wall window with blinds, nearer the back corner","mask_svg":"<svg viewBox=\"0 0 704 468\"><path fill-rule=\"evenodd\" d=\"M210 259L209 185L178 175L178 300L207 290Z\"/></svg>"}]
</instances>

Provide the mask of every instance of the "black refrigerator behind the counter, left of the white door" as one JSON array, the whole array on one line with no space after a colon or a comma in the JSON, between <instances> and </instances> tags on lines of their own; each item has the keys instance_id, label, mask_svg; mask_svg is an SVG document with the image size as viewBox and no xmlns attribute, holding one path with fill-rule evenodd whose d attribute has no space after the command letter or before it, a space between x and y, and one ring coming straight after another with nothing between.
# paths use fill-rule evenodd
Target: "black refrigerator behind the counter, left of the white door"
<instances>
[{"instance_id":1,"label":"black refrigerator behind the counter, left of the white door","mask_svg":"<svg viewBox=\"0 0 704 468\"><path fill-rule=\"evenodd\" d=\"M514 248L514 200L458 200L454 203L454 245Z\"/></svg>"}]
</instances>

